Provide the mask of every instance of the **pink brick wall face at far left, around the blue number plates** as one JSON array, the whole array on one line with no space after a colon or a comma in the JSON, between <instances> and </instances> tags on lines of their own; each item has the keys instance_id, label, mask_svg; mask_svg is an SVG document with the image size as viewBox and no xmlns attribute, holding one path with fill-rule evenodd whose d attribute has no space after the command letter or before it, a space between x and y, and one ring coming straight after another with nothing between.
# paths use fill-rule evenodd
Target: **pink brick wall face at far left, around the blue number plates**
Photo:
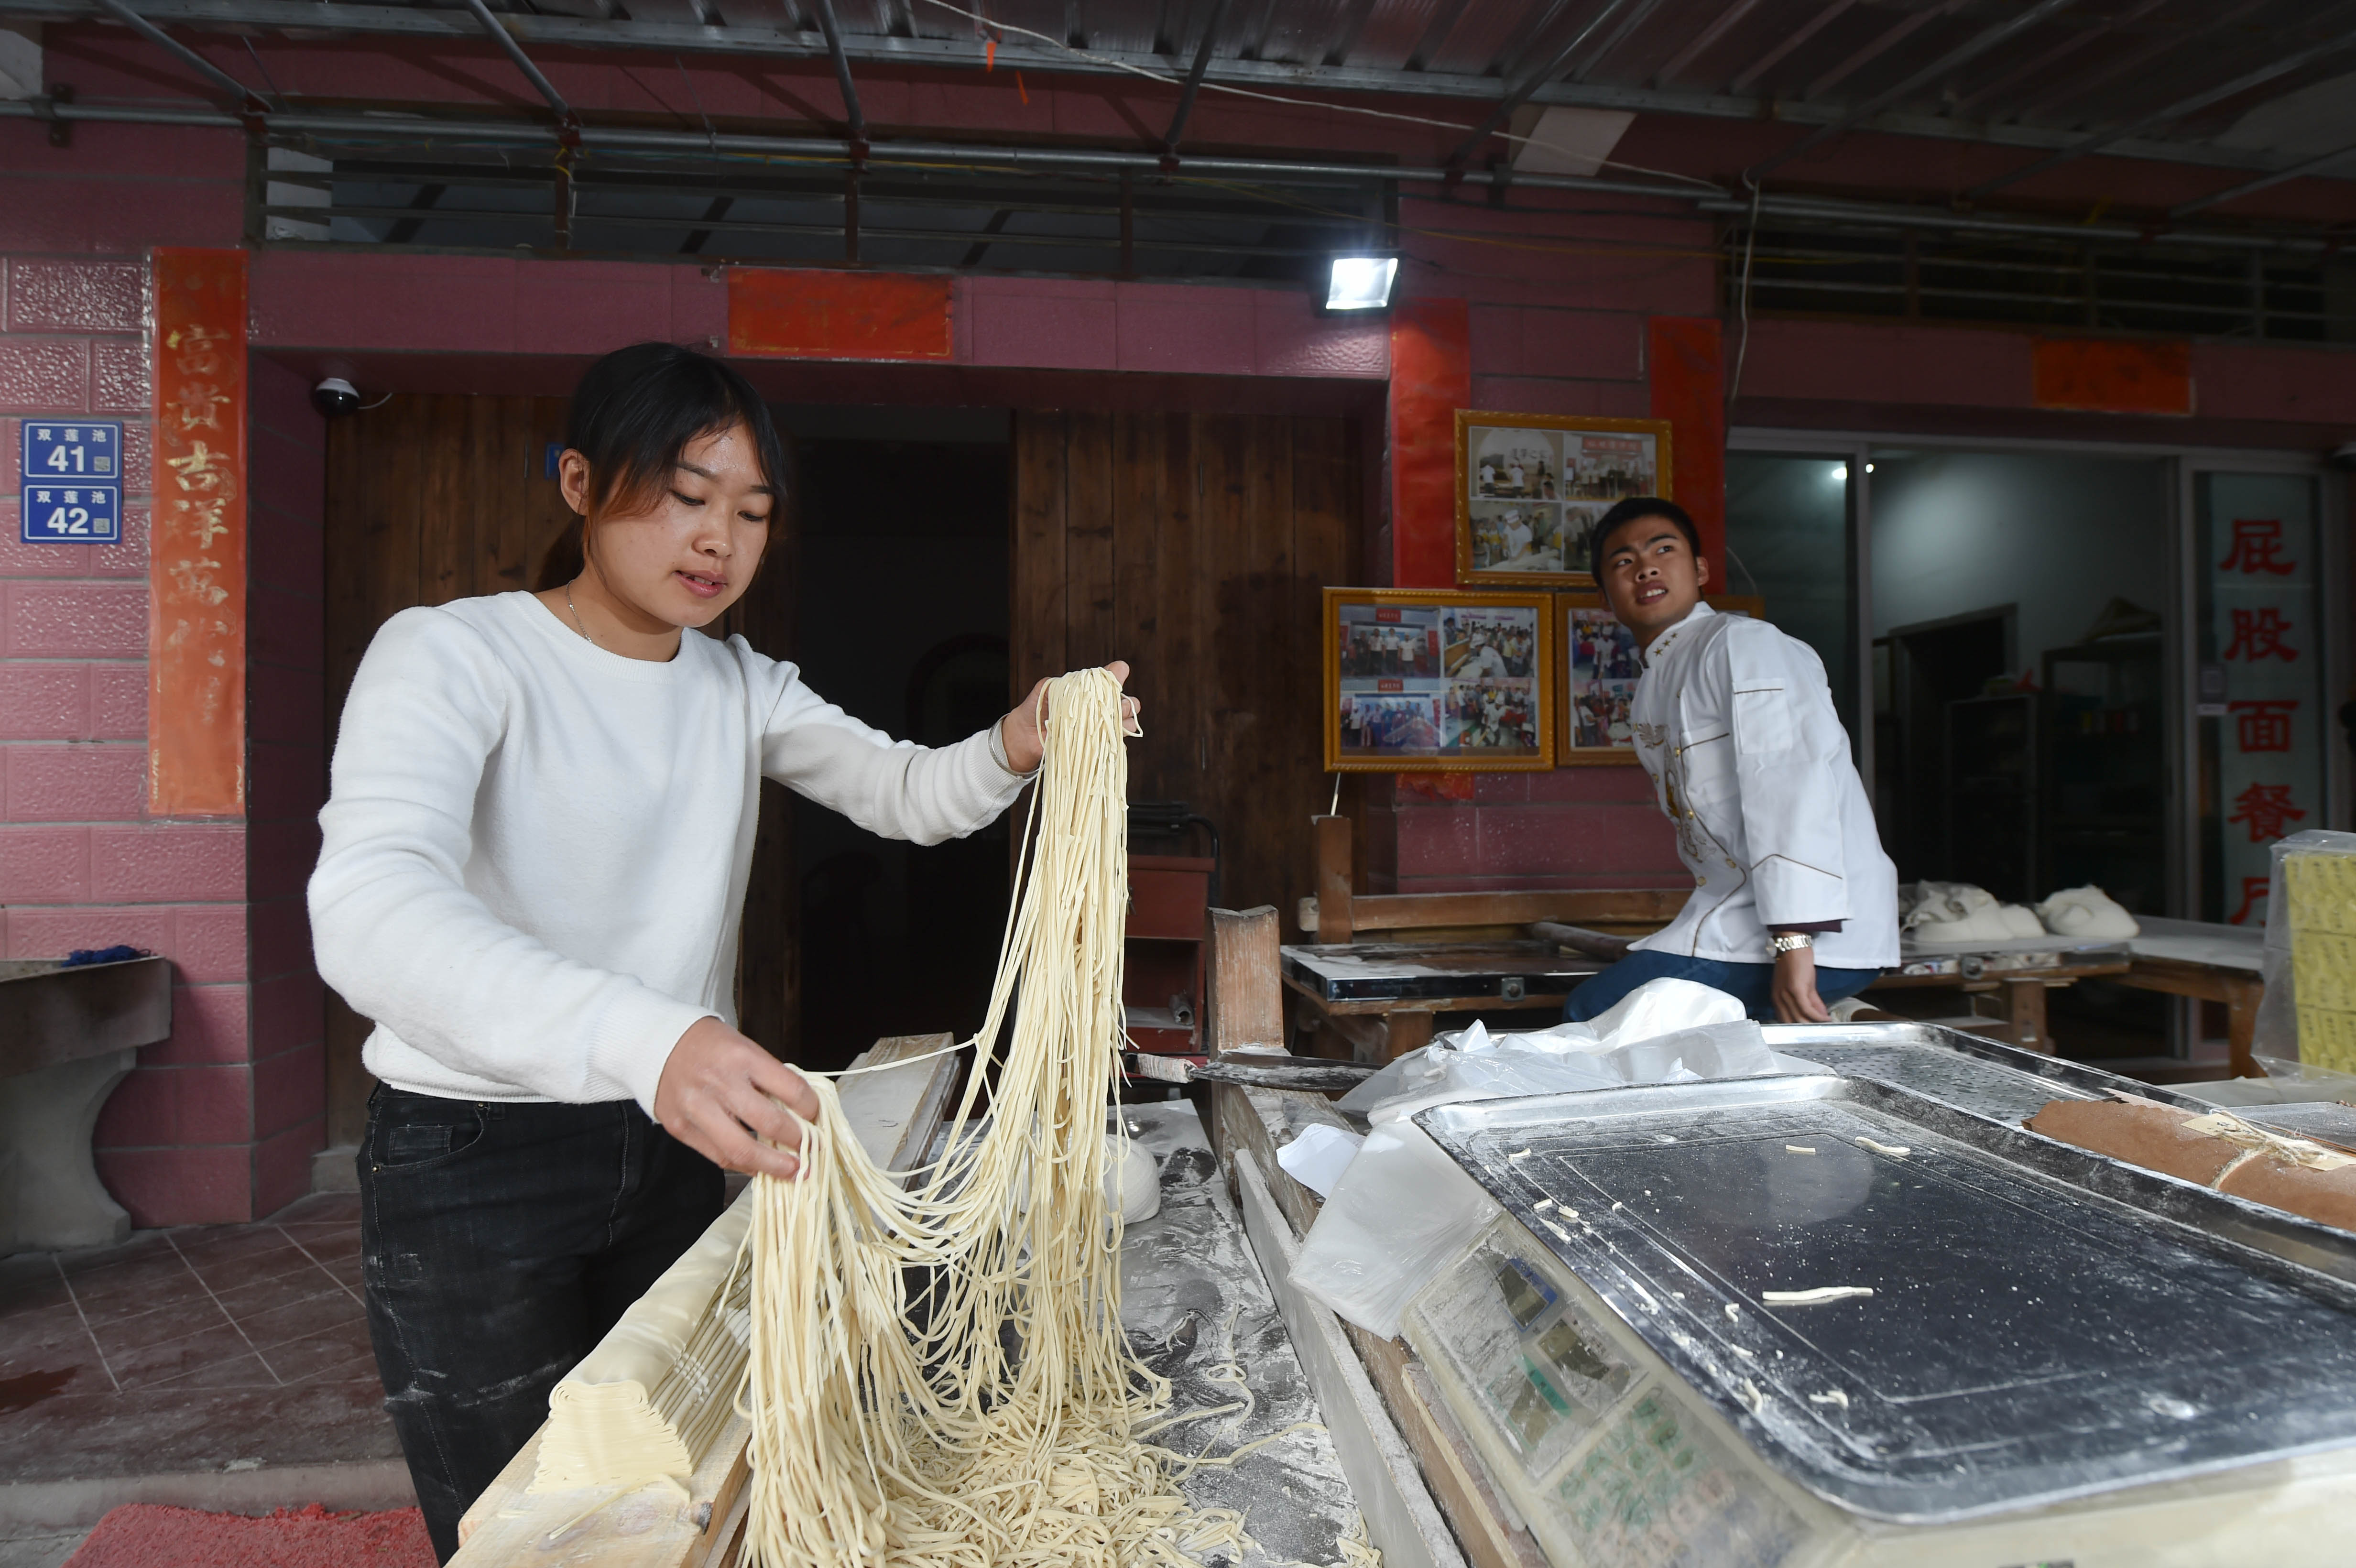
<instances>
[{"instance_id":1,"label":"pink brick wall face at far left, around the blue number plates","mask_svg":"<svg viewBox=\"0 0 2356 1568\"><path fill-rule=\"evenodd\" d=\"M24 414L130 431L120 546L24 546L0 501L0 951L127 942L172 958L172 1038L97 1130L139 1224L245 1220L257 1198L243 822L146 819L146 247L236 242L238 137L0 122L0 490Z\"/></svg>"}]
</instances>

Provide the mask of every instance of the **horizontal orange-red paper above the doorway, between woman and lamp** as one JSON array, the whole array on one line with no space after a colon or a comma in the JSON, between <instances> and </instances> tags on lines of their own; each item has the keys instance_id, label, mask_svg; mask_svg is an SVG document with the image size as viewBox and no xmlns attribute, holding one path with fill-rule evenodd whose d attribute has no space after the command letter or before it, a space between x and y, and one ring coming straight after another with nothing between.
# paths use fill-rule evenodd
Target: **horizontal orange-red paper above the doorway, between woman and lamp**
<instances>
[{"instance_id":1,"label":"horizontal orange-red paper above the doorway, between woman and lamp","mask_svg":"<svg viewBox=\"0 0 2356 1568\"><path fill-rule=\"evenodd\" d=\"M945 360L949 278L728 268L728 353L789 360Z\"/></svg>"}]
</instances>

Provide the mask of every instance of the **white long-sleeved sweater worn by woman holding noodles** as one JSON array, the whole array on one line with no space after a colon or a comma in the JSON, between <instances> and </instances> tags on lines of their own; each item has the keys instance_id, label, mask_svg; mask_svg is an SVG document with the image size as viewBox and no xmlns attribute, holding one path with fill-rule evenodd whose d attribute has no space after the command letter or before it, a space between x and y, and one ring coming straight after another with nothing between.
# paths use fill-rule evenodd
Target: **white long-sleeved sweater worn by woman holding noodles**
<instances>
[{"instance_id":1,"label":"white long-sleeved sweater worn by woman holding noodles","mask_svg":"<svg viewBox=\"0 0 2356 1568\"><path fill-rule=\"evenodd\" d=\"M735 1022L763 777L916 843L1023 789L990 730L893 742L744 638L624 659L530 593L389 619L344 702L311 873L318 972L377 1022L368 1071L653 1114L679 1036Z\"/></svg>"}]
</instances>

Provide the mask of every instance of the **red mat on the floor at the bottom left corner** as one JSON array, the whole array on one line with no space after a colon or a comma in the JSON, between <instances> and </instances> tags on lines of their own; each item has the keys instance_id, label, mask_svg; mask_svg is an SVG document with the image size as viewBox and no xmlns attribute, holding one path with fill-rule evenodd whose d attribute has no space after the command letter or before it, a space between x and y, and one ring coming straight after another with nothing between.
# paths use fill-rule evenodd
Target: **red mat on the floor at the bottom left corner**
<instances>
[{"instance_id":1,"label":"red mat on the floor at the bottom left corner","mask_svg":"<svg viewBox=\"0 0 2356 1568\"><path fill-rule=\"evenodd\" d=\"M434 1568L434 1544L417 1509L330 1514L313 1502L254 1519L130 1502L64 1568Z\"/></svg>"}]
</instances>

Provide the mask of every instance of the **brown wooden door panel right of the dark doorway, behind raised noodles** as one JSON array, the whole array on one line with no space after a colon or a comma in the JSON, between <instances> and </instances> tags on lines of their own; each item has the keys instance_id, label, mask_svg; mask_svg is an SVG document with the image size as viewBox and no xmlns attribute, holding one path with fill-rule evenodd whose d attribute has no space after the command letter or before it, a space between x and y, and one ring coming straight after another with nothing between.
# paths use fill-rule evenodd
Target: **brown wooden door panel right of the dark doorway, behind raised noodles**
<instances>
[{"instance_id":1,"label":"brown wooden door panel right of the dark doorway, behind raised noodles","mask_svg":"<svg viewBox=\"0 0 2356 1568\"><path fill-rule=\"evenodd\" d=\"M1315 892L1319 591L1359 558L1357 476L1348 419L1015 414L1013 690L1129 659L1129 798L1211 817L1227 909Z\"/></svg>"}]
</instances>

